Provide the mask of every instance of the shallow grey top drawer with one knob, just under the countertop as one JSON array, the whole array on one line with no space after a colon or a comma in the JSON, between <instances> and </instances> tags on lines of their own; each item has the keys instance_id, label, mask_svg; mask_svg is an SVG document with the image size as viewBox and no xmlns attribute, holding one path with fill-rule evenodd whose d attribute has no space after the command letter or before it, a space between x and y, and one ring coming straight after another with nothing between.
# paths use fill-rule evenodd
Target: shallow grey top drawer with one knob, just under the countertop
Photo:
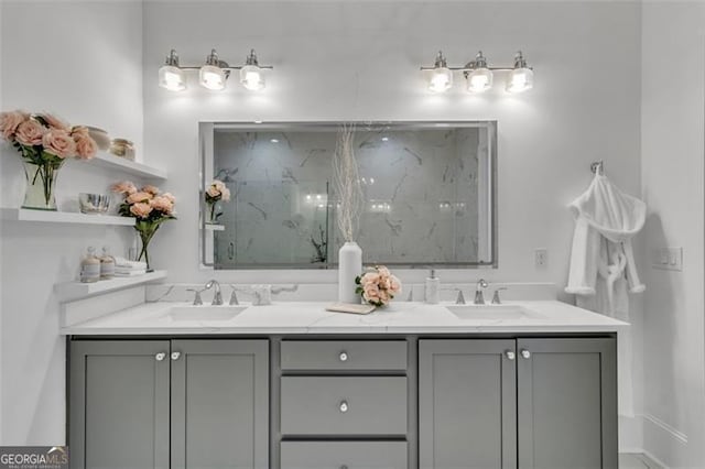
<instances>
[{"instance_id":1,"label":"shallow grey top drawer with one knob, just under the countertop","mask_svg":"<svg viewBox=\"0 0 705 469\"><path fill-rule=\"evenodd\" d=\"M284 340L282 370L406 370L403 340Z\"/></svg>"}]
</instances>

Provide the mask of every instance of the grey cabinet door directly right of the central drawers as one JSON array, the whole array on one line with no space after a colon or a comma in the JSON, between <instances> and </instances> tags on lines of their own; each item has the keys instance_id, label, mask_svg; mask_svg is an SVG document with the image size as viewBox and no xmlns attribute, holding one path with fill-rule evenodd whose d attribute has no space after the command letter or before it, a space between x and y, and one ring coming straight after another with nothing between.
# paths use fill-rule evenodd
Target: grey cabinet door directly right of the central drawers
<instances>
[{"instance_id":1,"label":"grey cabinet door directly right of the central drawers","mask_svg":"<svg viewBox=\"0 0 705 469\"><path fill-rule=\"evenodd\" d=\"M516 468L514 340L419 341L420 467Z\"/></svg>"}]
</instances>

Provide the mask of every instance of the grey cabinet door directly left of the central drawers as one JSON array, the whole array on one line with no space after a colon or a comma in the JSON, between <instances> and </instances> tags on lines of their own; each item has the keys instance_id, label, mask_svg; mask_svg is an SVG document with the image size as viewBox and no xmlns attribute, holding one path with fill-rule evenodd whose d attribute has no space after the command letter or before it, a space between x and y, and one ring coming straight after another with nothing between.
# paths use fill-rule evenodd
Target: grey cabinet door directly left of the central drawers
<instances>
[{"instance_id":1,"label":"grey cabinet door directly left of the central drawers","mask_svg":"<svg viewBox=\"0 0 705 469\"><path fill-rule=\"evenodd\" d=\"M267 340L172 341L172 468L269 465Z\"/></svg>"}]
</instances>

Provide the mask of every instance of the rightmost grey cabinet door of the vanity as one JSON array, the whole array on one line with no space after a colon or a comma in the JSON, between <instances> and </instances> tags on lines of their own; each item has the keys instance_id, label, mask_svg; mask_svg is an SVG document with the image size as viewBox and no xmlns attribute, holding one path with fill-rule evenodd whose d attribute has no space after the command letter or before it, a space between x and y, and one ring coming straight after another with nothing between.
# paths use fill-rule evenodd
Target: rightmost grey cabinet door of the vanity
<instances>
[{"instance_id":1,"label":"rightmost grey cabinet door of the vanity","mask_svg":"<svg viewBox=\"0 0 705 469\"><path fill-rule=\"evenodd\" d=\"M517 347L519 467L617 468L615 340L520 339Z\"/></svg>"}]
</instances>

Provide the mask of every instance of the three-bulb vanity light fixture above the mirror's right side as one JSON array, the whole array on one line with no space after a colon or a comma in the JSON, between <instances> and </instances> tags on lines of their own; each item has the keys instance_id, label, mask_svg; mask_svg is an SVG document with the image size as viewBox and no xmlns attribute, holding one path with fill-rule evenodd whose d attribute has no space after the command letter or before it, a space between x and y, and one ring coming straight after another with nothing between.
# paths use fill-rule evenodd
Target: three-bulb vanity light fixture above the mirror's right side
<instances>
[{"instance_id":1,"label":"three-bulb vanity light fixture above the mirror's right side","mask_svg":"<svg viewBox=\"0 0 705 469\"><path fill-rule=\"evenodd\" d=\"M421 67L424 72L431 72L429 89L434 92L444 92L453 86L453 72L463 72L466 79L466 89L469 92L485 92L492 87L495 72L509 72L505 89L508 92L521 92L533 88L533 69L527 66L521 51L514 56L513 67L490 67L487 58L479 51L475 59L464 67L448 67L443 52L438 52L433 67Z\"/></svg>"}]
</instances>

